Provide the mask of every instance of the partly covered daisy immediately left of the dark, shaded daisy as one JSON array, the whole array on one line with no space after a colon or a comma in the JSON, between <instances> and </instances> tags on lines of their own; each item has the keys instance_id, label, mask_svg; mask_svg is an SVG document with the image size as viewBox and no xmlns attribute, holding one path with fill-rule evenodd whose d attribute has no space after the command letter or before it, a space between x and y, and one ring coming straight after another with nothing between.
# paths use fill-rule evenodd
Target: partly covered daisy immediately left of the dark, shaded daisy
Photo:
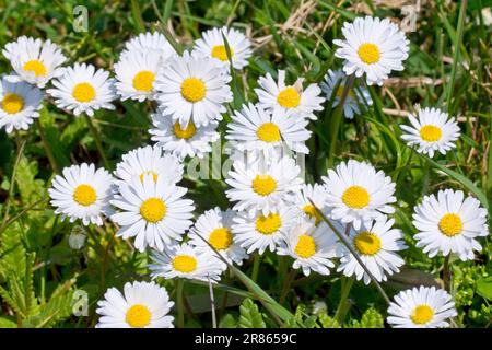
<instances>
[{"instance_id":1,"label":"partly covered daisy immediately left of the dark, shaded daisy","mask_svg":"<svg viewBox=\"0 0 492 350\"><path fill-rule=\"evenodd\" d=\"M255 89L258 95L259 105L265 109L276 107L290 110L293 117L316 119L315 110L323 110L325 97L321 89L317 84L309 84L303 88L304 78L298 78L294 84L285 83L285 71L279 70L277 82L267 73L258 80L260 89Z\"/></svg>"}]
</instances>

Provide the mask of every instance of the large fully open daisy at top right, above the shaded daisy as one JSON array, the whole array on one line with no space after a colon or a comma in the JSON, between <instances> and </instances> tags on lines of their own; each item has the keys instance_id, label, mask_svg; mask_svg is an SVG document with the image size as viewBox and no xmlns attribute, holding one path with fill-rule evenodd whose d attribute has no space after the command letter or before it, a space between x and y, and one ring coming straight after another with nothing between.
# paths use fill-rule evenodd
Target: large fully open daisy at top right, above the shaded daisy
<instances>
[{"instance_id":1,"label":"large fully open daisy at top right, above the shaded daisy","mask_svg":"<svg viewBox=\"0 0 492 350\"><path fill-rule=\"evenodd\" d=\"M410 42L388 19L358 18L343 24L342 34L342 40L333 40L335 56L344 59L347 75L365 73L367 85L383 85L393 70L403 70Z\"/></svg>"}]
</instances>

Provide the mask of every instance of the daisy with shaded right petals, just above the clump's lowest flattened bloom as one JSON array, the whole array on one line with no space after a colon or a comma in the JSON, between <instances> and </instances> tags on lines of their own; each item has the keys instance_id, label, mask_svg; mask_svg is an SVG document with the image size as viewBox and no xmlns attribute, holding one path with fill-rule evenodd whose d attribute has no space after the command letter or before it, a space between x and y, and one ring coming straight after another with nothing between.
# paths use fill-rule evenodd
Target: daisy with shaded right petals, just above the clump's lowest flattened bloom
<instances>
[{"instance_id":1,"label":"daisy with shaded right petals, just above the clump's lowest flattened bloom","mask_svg":"<svg viewBox=\"0 0 492 350\"><path fill-rule=\"evenodd\" d=\"M235 242L235 235L231 229L235 215L233 210L221 211L219 207L206 211L198 217L197 222L190 229L189 244L199 250L211 250L210 244L227 262L242 265L248 255ZM208 244L203 240L207 240ZM227 268L222 260L220 262L224 269Z\"/></svg>"}]
</instances>

